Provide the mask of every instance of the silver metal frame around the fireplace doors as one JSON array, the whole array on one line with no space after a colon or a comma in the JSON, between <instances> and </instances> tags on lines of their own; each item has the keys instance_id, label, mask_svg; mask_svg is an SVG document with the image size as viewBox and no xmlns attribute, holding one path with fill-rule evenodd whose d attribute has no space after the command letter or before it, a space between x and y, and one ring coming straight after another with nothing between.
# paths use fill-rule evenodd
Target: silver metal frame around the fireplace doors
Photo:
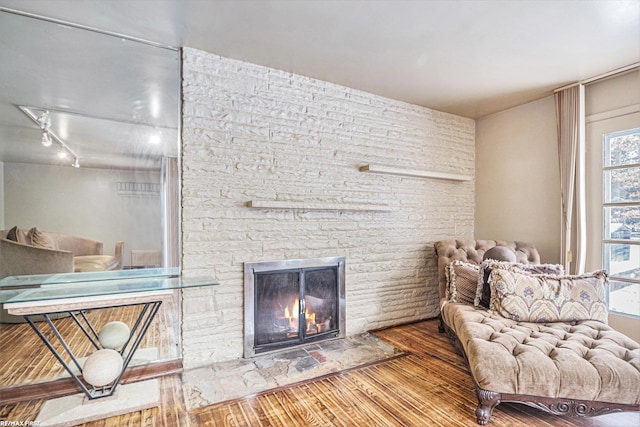
<instances>
[{"instance_id":1,"label":"silver metal frame around the fireplace doors","mask_svg":"<svg viewBox=\"0 0 640 427\"><path fill-rule=\"evenodd\" d=\"M255 356L255 273L303 270L308 268L337 267L338 272L338 334L336 338L345 337L346 329L346 300L345 300L345 257L288 259L280 261L259 261L244 263L244 357ZM306 345L300 343L287 346L287 349ZM282 349L273 350L281 351ZM268 354L273 351L261 351L259 354Z\"/></svg>"}]
</instances>

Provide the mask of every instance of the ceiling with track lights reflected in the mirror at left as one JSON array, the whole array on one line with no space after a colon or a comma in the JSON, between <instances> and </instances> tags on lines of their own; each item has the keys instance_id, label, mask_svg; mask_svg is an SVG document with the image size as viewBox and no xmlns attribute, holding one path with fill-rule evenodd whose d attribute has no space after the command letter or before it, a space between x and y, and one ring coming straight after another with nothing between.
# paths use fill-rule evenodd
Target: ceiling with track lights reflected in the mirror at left
<instances>
[{"instance_id":1,"label":"ceiling with track lights reflected in the mirror at left","mask_svg":"<svg viewBox=\"0 0 640 427\"><path fill-rule=\"evenodd\" d=\"M159 169L178 154L175 49L0 10L0 58L0 161ZM66 150L41 144L45 111Z\"/></svg>"}]
</instances>

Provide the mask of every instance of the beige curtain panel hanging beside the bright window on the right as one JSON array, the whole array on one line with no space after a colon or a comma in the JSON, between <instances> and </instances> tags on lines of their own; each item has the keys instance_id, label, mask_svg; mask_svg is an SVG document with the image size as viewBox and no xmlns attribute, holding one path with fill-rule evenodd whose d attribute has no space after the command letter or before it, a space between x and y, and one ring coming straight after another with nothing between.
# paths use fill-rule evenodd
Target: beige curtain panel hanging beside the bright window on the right
<instances>
[{"instance_id":1,"label":"beige curtain panel hanging beside the bright window on the right","mask_svg":"<svg viewBox=\"0 0 640 427\"><path fill-rule=\"evenodd\" d=\"M562 264L579 274L586 263L586 152L584 85L555 93L562 198Z\"/></svg>"}]
</instances>

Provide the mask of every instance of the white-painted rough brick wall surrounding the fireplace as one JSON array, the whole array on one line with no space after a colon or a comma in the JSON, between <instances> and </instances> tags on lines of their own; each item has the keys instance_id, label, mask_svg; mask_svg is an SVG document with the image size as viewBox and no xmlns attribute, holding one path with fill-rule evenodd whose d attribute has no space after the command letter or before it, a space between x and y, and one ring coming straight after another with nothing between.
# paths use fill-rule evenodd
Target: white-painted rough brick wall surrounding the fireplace
<instances>
[{"instance_id":1,"label":"white-painted rough brick wall surrounding the fireplace","mask_svg":"<svg viewBox=\"0 0 640 427\"><path fill-rule=\"evenodd\" d=\"M359 167L473 175L473 120L190 48L182 90L183 274L221 283L183 291L186 367L242 357L248 261L345 256L348 335L437 315L433 242L473 236L473 181Z\"/></svg>"}]
</instances>

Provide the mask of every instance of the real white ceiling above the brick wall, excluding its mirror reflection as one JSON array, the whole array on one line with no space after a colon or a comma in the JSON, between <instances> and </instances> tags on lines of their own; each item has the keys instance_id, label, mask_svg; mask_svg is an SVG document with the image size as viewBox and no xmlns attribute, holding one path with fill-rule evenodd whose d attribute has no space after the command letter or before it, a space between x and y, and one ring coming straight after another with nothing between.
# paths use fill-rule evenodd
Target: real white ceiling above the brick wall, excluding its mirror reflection
<instances>
[{"instance_id":1,"label":"real white ceiling above the brick wall, excluding its mirror reflection","mask_svg":"<svg viewBox=\"0 0 640 427\"><path fill-rule=\"evenodd\" d=\"M0 0L479 118L640 61L640 0Z\"/></svg>"}]
</instances>

